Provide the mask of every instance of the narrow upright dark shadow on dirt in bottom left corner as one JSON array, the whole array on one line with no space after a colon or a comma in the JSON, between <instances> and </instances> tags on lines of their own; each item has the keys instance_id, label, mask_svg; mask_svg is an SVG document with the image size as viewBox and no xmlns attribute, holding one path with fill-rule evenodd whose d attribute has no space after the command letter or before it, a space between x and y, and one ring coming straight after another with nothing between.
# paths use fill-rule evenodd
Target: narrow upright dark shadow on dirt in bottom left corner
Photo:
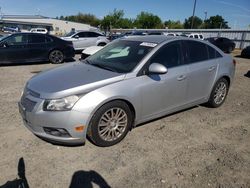
<instances>
[{"instance_id":1,"label":"narrow upright dark shadow on dirt in bottom left corner","mask_svg":"<svg viewBox=\"0 0 250 188\"><path fill-rule=\"evenodd\" d=\"M7 181L1 188L29 188L28 181L25 176L25 163L21 157L18 161L17 174L19 178Z\"/></svg>"}]
</instances>

